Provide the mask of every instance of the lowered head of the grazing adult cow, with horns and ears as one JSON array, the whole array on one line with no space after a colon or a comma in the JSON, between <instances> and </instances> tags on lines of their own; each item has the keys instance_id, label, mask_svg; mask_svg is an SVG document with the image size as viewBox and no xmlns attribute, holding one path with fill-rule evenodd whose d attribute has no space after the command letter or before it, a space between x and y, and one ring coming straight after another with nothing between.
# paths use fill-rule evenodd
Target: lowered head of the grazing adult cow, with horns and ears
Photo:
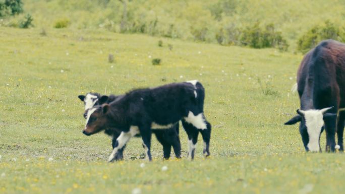
<instances>
[{"instance_id":1,"label":"lowered head of the grazing adult cow, with horns and ears","mask_svg":"<svg viewBox=\"0 0 345 194\"><path fill-rule=\"evenodd\" d=\"M320 110L297 110L298 115L285 122L284 124L290 125L297 122L300 124L300 133L304 146L307 151L319 152L320 151L320 136L322 133L324 119L327 117L336 116L335 113L326 113L327 110L333 107L323 108Z\"/></svg>"}]
</instances>

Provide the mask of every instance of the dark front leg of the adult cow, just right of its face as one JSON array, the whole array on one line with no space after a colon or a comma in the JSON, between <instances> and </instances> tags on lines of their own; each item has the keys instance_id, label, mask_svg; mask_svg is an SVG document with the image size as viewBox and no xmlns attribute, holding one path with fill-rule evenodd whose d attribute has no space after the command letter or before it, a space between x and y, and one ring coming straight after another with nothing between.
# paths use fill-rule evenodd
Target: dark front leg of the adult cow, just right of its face
<instances>
[{"instance_id":1,"label":"dark front leg of the adult cow, just right of its face","mask_svg":"<svg viewBox=\"0 0 345 194\"><path fill-rule=\"evenodd\" d=\"M336 116L324 118L325 131L326 131L326 152L334 152L335 150L335 128Z\"/></svg>"}]
</instances>

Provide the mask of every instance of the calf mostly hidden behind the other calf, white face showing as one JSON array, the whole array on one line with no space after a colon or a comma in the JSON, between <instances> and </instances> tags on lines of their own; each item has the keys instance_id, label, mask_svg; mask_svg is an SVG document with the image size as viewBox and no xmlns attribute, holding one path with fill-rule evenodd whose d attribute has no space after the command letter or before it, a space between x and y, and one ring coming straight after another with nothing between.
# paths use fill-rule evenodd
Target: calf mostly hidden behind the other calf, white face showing
<instances>
[{"instance_id":1,"label":"calf mostly hidden behind the other calf, white face showing","mask_svg":"<svg viewBox=\"0 0 345 194\"><path fill-rule=\"evenodd\" d=\"M79 95L78 98L84 102L85 104L85 113L84 117L87 117L87 111L94 106L101 105L104 103L111 103L115 100L119 100L124 95L115 96L115 95L100 95L99 93L87 93L84 95ZM105 134L112 137L112 148L115 147L117 138L120 136L121 132L116 129L106 128ZM155 134L158 142L163 146L163 158L169 159L171 147L174 149L176 158L181 158L181 143L179 138L179 123L172 125L170 128L166 130L161 129L153 129L152 132ZM119 150L119 154L117 155L117 159L123 159L123 151L125 146Z\"/></svg>"}]
</instances>

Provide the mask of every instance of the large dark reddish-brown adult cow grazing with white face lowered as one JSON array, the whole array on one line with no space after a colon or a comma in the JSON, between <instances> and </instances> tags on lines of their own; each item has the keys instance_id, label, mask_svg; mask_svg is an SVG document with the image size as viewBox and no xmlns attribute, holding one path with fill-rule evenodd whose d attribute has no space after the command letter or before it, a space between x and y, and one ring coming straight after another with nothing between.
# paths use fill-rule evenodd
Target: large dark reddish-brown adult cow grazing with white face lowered
<instances>
[{"instance_id":1,"label":"large dark reddish-brown adult cow grazing with white face lowered","mask_svg":"<svg viewBox=\"0 0 345 194\"><path fill-rule=\"evenodd\" d=\"M343 151L345 112L345 44L334 40L320 42L303 58L297 72L301 108L285 124L300 123L306 151L318 152L320 136L326 131L326 151ZM328 113L327 113L328 112ZM335 132L338 145L335 145Z\"/></svg>"}]
</instances>

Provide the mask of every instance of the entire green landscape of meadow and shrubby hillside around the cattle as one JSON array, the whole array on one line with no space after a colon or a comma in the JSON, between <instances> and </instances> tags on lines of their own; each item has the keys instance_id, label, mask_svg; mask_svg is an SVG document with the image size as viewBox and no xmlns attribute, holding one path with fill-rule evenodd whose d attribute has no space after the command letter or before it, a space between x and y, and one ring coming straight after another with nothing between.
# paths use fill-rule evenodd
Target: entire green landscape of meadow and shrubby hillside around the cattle
<instances>
[{"instance_id":1,"label":"entire green landscape of meadow and shrubby hillside around the cattle","mask_svg":"<svg viewBox=\"0 0 345 194\"><path fill-rule=\"evenodd\" d=\"M343 41L343 2L21 2L0 0L0 193L345 189L345 155L305 153L298 125L283 125L299 108L290 92L303 57L295 51L325 38ZM182 126L183 158L162 161L153 137L150 163L142 159L140 138L127 145L125 161L109 164L109 137L81 133L79 94L195 79L205 87L213 126L208 159L201 139L196 159L186 159Z\"/></svg>"}]
</instances>

